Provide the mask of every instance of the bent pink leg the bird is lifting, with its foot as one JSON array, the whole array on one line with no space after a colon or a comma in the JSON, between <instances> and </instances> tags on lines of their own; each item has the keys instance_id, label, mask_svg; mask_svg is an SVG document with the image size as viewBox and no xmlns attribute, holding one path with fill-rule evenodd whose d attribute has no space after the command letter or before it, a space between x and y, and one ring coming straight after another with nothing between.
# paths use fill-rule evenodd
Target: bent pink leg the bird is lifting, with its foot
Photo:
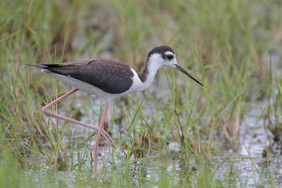
<instances>
[{"instance_id":1,"label":"bent pink leg the bird is lifting, with its foot","mask_svg":"<svg viewBox=\"0 0 282 188\"><path fill-rule=\"evenodd\" d=\"M112 145L114 146L114 142L113 140L111 139L111 136L108 134L108 132L106 132L105 130L101 130L101 126L100 127L97 127L97 126L94 126L94 125L89 125L87 123L82 123L78 120L73 120L71 118L67 118L66 116L63 116L63 115L59 115L57 113L53 113L51 111L48 111L48 108L50 108L51 106L54 106L56 104L58 104L60 101L63 101L63 99L66 99L68 96L70 96L71 94L77 92L79 89L73 89L71 90L70 92L64 94L63 96L60 96L58 99L52 101L51 103L47 104L46 106L44 106L42 108L42 113L44 113L45 115L49 116L49 117L53 117L53 118L57 118L57 119L60 119L60 120L65 120L65 121L68 121L68 122L71 122L71 123L75 123L75 124L78 124L78 125L82 125L83 127L88 127L92 130L97 130L98 133L100 132L100 135L102 133L102 135L106 138L106 140Z\"/></svg>"}]
</instances>

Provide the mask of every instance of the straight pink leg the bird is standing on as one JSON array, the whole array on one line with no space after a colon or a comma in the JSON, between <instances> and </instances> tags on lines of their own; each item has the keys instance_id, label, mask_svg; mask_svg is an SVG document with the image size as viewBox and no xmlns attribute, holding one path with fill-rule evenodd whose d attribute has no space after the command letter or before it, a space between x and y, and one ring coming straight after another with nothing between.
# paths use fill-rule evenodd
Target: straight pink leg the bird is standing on
<instances>
[{"instance_id":1,"label":"straight pink leg the bird is standing on","mask_svg":"<svg viewBox=\"0 0 282 188\"><path fill-rule=\"evenodd\" d=\"M100 142L100 137L101 137L101 133L104 130L104 121L106 118L106 113L108 111L108 107L109 107L109 102L106 101L106 106L104 108L104 112L102 115L102 119L100 121L100 125L99 125L99 130L97 133L97 137L96 137L96 141L93 147L93 156L94 156L94 177L97 175L97 163L98 163L98 155L99 155L99 142Z\"/></svg>"}]
</instances>

